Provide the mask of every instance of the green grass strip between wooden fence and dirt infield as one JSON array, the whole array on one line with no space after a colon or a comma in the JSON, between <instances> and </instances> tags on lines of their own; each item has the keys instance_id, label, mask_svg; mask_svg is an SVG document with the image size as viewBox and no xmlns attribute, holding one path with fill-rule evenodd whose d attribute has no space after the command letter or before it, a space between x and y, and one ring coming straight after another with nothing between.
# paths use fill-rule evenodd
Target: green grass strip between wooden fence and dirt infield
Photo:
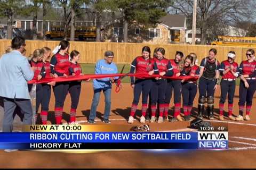
<instances>
[{"instance_id":1,"label":"green grass strip between wooden fence and dirt infield","mask_svg":"<svg viewBox=\"0 0 256 170\"><path fill-rule=\"evenodd\" d=\"M122 67L125 65L124 67L124 71L123 73L128 73L130 72L130 64L117 64L117 69L118 69L118 73L121 72ZM95 64L81 64L82 66L82 70L84 74L94 74L94 66ZM130 78L129 77L125 77L124 79L122 79L123 83L130 83ZM236 85L239 85L240 79L236 79Z\"/></svg>"}]
</instances>

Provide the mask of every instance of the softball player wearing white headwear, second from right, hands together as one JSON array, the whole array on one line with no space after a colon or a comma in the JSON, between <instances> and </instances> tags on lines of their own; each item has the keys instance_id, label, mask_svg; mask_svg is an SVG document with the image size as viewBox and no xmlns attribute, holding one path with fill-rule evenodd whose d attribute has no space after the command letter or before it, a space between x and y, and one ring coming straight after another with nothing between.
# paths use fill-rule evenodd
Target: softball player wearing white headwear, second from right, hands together
<instances>
[{"instance_id":1,"label":"softball player wearing white headwear, second from right, hands together","mask_svg":"<svg viewBox=\"0 0 256 170\"><path fill-rule=\"evenodd\" d=\"M228 94L228 118L231 121L235 121L236 118L233 114L233 101L236 89L236 78L239 76L239 67L235 61L236 53L233 51L228 52L228 60L225 60L220 63L220 89L221 89L221 97L220 97L220 115L219 120L223 121L223 109L226 101L226 96Z\"/></svg>"}]
</instances>

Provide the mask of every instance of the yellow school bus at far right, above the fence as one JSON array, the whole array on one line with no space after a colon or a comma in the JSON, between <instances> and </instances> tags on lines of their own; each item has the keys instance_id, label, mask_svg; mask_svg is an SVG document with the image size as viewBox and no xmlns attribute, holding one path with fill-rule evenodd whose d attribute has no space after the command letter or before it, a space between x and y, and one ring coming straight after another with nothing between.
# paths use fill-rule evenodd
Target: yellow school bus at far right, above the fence
<instances>
[{"instance_id":1,"label":"yellow school bus at far right, above the fence","mask_svg":"<svg viewBox=\"0 0 256 170\"><path fill-rule=\"evenodd\" d=\"M256 46L256 37L218 36L211 45L251 47Z\"/></svg>"}]
</instances>

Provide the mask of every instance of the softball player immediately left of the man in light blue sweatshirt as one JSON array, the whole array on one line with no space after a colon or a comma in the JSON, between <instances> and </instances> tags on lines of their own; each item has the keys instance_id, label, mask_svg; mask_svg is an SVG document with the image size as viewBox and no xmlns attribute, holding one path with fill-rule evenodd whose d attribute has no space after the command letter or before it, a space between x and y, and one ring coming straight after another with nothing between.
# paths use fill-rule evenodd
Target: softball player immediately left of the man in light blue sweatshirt
<instances>
[{"instance_id":1,"label":"softball player immediately left of the man in light blue sweatshirt","mask_svg":"<svg viewBox=\"0 0 256 170\"><path fill-rule=\"evenodd\" d=\"M80 58L80 53L73 50L70 53L69 75L82 75L82 67L77 63ZM71 81L69 83L69 94L71 97L70 119L69 124L77 124L76 108L81 94L81 81Z\"/></svg>"}]
</instances>

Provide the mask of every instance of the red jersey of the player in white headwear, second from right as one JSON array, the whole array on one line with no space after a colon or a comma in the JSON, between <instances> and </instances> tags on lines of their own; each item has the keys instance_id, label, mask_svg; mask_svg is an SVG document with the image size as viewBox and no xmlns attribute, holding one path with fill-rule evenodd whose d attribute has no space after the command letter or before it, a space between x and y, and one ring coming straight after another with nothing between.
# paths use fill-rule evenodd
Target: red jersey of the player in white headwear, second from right
<instances>
[{"instance_id":1,"label":"red jersey of the player in white headwear, second from right","mask_svg":"<svg viewBox=\"0 0 256 170\"><path fill-rule=\"evenodd\" d=\"M233 62L232 64L230 64L228 62L228 60L225 60L223 62L221 62L220 64L220 74L222 74L223 71L227 70L228 67L230 67L231 65L234 66L233 72L239 74L239 67L238 64L236 62ZM231 71L227 72L225 75L222 74L222 79L236 79L235 75L233 75L233 73L231 73Z\"/></svg>"}]
</instances>

